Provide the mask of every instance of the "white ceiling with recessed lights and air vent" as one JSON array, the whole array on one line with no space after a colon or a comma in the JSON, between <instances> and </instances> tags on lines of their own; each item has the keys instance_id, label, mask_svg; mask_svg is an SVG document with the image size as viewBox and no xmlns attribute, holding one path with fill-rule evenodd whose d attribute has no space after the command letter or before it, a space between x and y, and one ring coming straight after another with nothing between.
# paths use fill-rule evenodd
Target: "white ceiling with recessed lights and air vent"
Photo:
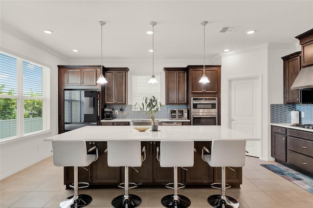
<instances>
[{"instance_id":1,"label":"white ceiling with recessed lights and air vent","mask_svg":"<svg viewBox=\"0 0 313 208\"><path fill-rule=\"evenodd\" d=\"M313 28L313 0L0 0L1 29L15 31L65 60L191 60L264 43L296 43ZM224 26L238 27L219 33ZM8 29L9 28L9 29ZM44 29L53 30L47 35ZM2 29L3 30L3 29ZM255 30L247 35L248 30ZM79 49L73 52L72 49ZM229 52L228 52L229 53Z\"/></svg>"}]
</instances>

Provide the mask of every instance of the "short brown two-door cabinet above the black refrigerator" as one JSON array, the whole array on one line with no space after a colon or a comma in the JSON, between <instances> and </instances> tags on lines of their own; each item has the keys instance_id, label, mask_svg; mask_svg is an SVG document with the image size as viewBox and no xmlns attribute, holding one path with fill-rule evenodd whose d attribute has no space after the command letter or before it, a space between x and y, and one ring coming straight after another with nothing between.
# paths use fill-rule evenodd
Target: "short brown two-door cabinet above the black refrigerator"
<instances>
[{"instance_id":1,"label":"short brown two-door cabinet above the black refrigerator","mask_svg":"<svg viewBox=\"0 0 313 208\"><path fill-rule=\"evenodd\" d=\"M97 85L97 71L94 68L66 69L67 85Z\"/></svg>"}]
</instances>

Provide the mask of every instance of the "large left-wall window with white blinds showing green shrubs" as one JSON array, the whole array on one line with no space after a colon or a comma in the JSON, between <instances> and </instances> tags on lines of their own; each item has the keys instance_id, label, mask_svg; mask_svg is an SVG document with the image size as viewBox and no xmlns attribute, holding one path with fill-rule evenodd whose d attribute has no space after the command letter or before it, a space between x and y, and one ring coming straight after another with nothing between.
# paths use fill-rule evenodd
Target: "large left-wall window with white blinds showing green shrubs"
<instances>
[{"instance_id":1,"label":"large left-wall window with white blinds showing green shrubs","mask_svg":"<svg viewBox=\"0 0 313 208\"><path fill-rule=\"evenodd\" d=\"M0 139L50 130L50 68L0 53Z\"/></svg>"}]
</instances>

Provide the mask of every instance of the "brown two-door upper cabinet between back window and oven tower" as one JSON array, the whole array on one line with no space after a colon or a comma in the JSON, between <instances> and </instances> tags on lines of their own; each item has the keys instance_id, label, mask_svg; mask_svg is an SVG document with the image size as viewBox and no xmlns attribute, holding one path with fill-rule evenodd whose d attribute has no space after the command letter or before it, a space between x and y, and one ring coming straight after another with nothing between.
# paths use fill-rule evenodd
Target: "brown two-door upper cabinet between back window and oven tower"
<instances>
[{"instance_id":1,"label":"brown two-door upper cabinet between back window and oven tower","mask_svg":"<svg viewBox=\"0 0 313 208\"><path fill-rule=\"evenodd\" d=\"M166 104L187 104L187 69L164 68Z\"/></svg>"}]
</instances>

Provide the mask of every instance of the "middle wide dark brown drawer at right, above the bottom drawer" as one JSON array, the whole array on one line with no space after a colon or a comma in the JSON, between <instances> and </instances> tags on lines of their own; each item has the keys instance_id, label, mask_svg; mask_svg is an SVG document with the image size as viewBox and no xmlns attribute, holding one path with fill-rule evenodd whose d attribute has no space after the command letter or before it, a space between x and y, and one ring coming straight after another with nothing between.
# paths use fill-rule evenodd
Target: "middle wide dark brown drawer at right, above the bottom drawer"
<instances>
[{"instance_id":1,"label":"middle wide dark brown drawer at right, above the bottom drawer","mask_svg":"<svg viewBox=\"0 0 313 208\"><path fill-rule=\"evenodd\" d=\"M288 149L313 157L313 142L288 136Z\"/></svg>"}]
</instances>

